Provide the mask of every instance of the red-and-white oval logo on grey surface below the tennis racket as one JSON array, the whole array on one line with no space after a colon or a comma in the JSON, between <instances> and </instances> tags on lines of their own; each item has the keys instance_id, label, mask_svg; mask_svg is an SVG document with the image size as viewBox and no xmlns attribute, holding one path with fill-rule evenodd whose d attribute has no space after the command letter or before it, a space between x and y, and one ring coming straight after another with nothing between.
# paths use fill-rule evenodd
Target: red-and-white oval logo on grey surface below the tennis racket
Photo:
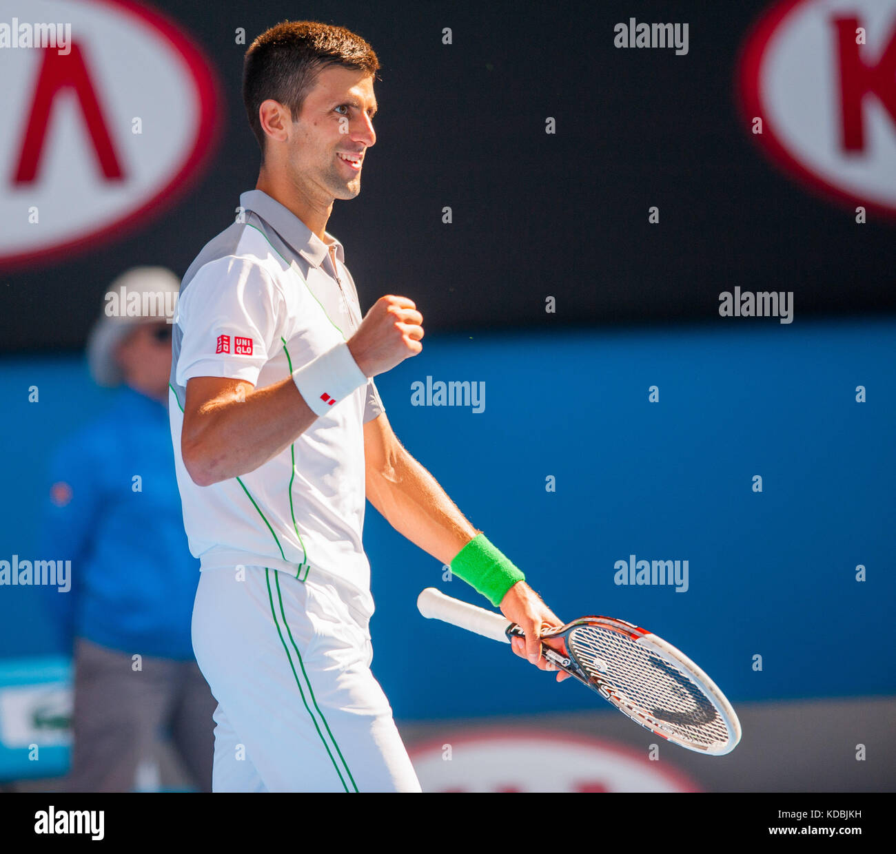
<instances>
[{"instance_id":1,"label":"red-and-white oval logo on grey surface below the tennis racket","mask_svg":"<svg viewBox=\"0 0 896 854\"><path fill-rule=\"evenodd\" d=\"M424 791L700 791L672 766L674 749L660 741L662 761L651 762L646 748L512 727L446 730L409 747L409 756Z\"/></svg>"}]
</instances>

